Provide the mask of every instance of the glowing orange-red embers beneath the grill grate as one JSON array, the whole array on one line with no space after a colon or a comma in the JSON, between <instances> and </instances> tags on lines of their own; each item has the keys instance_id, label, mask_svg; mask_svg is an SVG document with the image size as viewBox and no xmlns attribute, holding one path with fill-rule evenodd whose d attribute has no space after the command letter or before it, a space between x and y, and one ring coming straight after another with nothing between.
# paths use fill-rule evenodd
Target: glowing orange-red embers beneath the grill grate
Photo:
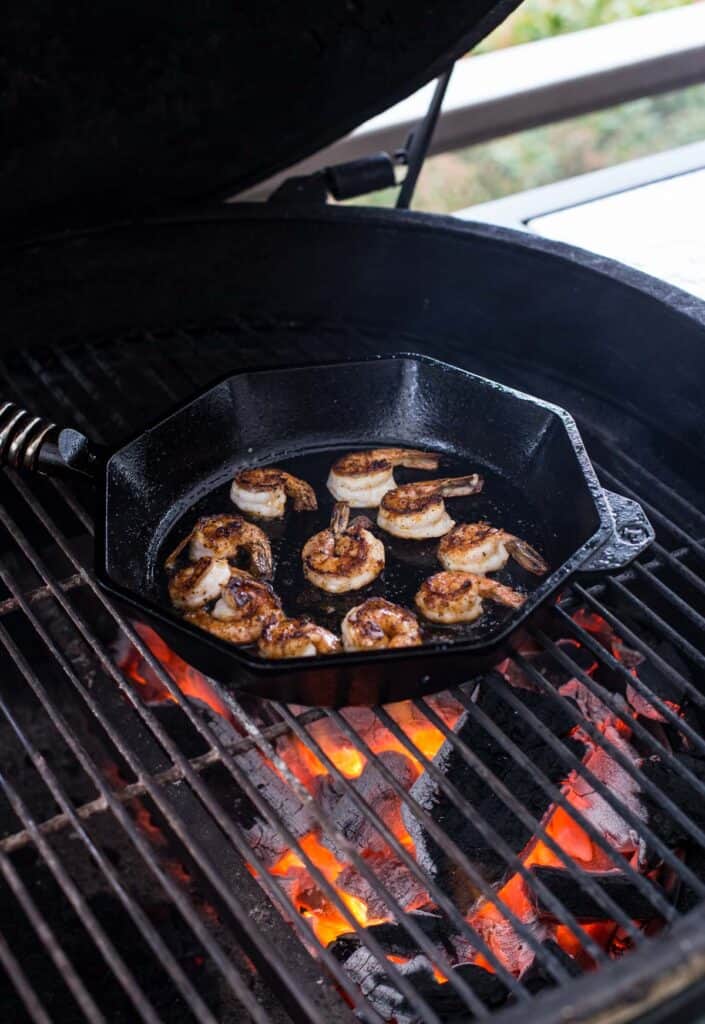
<instances>
[{"instance_id":1,"label":"glowing orange-red embers beneath the grill grate","mask_svg":"<svg viewBox=\"0 0 705 1024\"><path fill-rule=\"evenodd\" d=\"M600 645L625 665L632 674L636 674L636 669L641 662L640 655L622 643L605 618L594 612L581 609L574 614L574 620L582 629L595 637ZM226 708L213 692L205 677L174 654L149 627L139 625L136 629L184 696L201 700L216 714L231 722L233 721ZM576 651L581 647L574 639L564 639L558 643L567 648L576 648ZM568 652L571 653L571 656L577 657L577 653L573 650ZM542 654L533 642L527 643L526 649L522 653L529 659ZM585 660L589 660L589 658L583 659L582 664L585 664ZM121 668L125 675L140 687L140 692L146 700L174 699L165 691L159 679L150 671L132 647L121 657ZM598 663L595 660L584 671L588 675L593 675L597 670ZM531 680L511 660L502 663L498 667L498 671L512 686L520 689L532 688ZM626 757L631 759L635 758L635 754L630 744L629 716L640 714L655 721L663 721L663 716L658 711L651 709L644 700L639 703L638 694L635 691L628 694L629 702L624 702L623 712L620 708L620 715L614 714L579 679L568 680L559 686L559 691L565 697L569 697L577 705L583 716L592 723L594 728L598 729ZM430 697L429 702L447 727L453 729L463 713L462 705L448 693ZM666 702L672 707L676 714L678 713L676 705L671 706L668 701ZM403 701L389 706L386 711L402 732L409 737L413 746L428 759L436 757L444 744L444 734L431 724L413 701ZM342 714L350 732L359 737L359 743L354 742L345 730L328 716L309 725L307 727L308 733L323 751L325 757L334 765L337 772L351 781L363 799L367 800L384 820L396 839L413 855L415 853L414 842L404 825L399 794L393 791L393 787L388 785L386 788L383 787L386 785L383 782L383 776L374 765L369 764L369 758L365 751L368 749L375 757L401 756L400 764L404 765L404 771L399 776L395 772L395 777L398 780L404 777L404 781L400 784L407 788L421 775L423 766L406 744L384 727L380 718L370 709L346 709ZM619 793L620 799L630 808L632 813L638 815L640 813L638 794L628 772L624 771L605 751L593 743L584 729L576 728L573 734L586 748L583 763L608 788ZM277 753L288 769L317 801L317 804L324 806L327 814L336 823L336 828L342 830L348 842L351 841L350 837L354 837L352 841L357 844L360 856L366 860L375 874L384 878L385 885L389 872L393 873L395 871L403 881L407 878L404 872L407 872L411 881L417 881L413 879L411 872L408 872L406 865L397 859L393 851L380 839L379 834L365 820L364 816L356 824L356 820L349 816L351 814L349 808L343 808L346 798L339 778L328 772L326 765L320 757L316 756L312 748L297 736L286 734L277 741ZM256 765L262 768L263 779L267 775L274 776L280 784L286 784L286 780L282 779L274 765L266 762L256 752L252 756L256 759ZM384 761L384 757L381 760ZM378 792L375 786L382 787ZM266 791L265 782L262 782L262 788L264 792ZM634 866L639 866L642 851L638 848L633 830L600 797L599 793L595 793L577 772L570 772L566 776L562 784L562 792L568 807L574 807L576 811L579 811L599 831L607 845L614 851L610 855L602 850L588 833L574 819L568 808L553 806L545 815L542 825L546 835L557 844L565 855L572 858L583 871L614 870L619 867L624 858L628 859ZM347 799L349 803L349 798ZM347 817L344 817L343 810L345 814L348 814ZM143 812L140 817L141 826L151 834L153 842L158 843L159 838L155 833L158 834L159 829L152 822L149 813L143 809L141 812ZM140 814L139 808L137 813ZM284 813L281 808L280 813ZM307 819L304 821L303 827L296 831L300 848L327 882L335 887L342 904L351 916L360 925L366 927L389 922L388 914L380 916L375 913L379 907L374 900L365 898L365 880L355 871L354 865L342 859L340 850L335 847L334 840L322 835L318 826L312 827L313 824L314 822ZM277 847L274 844L267 847L259 839L257 842L253 842L253 850L257 851L256 855L259 857L260 863L286 889L297 912L308 919L316 936L323 944L329 944L338 936L350 932L349 921L319 888L301 855L296 850L284 849L281 845ZM269 859L266 859L264 854L268 850L272 850L273 854ZM562 858L544 841L538 839L533 839L528 843L522 851L521 857L527 868L535 866L565 867ZM248 865L248 867L255 877L261 869L252 865ZM431 907L427 894L423 893L418 885L416 888L411 885L407 889L402 887L401 891L406 895L401 899L399 896L397 898L405 910L411 911L419 908L427 910ZM520 873L512 874L504 882L498 896L502 903L510 907L513 913L534 932L539 941L544 941L547 938L553 939L566 952L575 956L583 967L590 966L589 957L570 928L539 920L535 902ZM467 918L472 927L484 937L493 953L509 971L521 975L529 967L533 959L533 951L515 934L501 909L489 901L481 899L470 907ZM583 927L585 932L603 948L612 949L614 943L615 955L619 951L618 947L626 948L628 946L628 938L621 935L614 922L585 924ZM470 959L479 967L488 971L493 970L491 963L485 956L467 946L463 947L462 955L460 952L458 953L458 958L461 962ZM410 962L408 956L391 953L388 955L388 959L399 965ZM438 982L447 981L446 976L438 968L433 968L433 973Z\"/></svg>"}]
</instances>

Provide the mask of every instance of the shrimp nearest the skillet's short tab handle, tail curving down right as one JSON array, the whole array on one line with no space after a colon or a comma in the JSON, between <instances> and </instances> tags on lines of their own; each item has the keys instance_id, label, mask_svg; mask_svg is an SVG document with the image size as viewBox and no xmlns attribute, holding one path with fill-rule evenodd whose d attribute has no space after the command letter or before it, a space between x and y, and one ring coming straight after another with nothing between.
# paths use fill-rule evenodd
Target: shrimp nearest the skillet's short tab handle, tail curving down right
<instances>
[{"instance_id":1,"label":"shrimp nearest the skillet's short tab handle, tail curving down right","mask_svg":"<svg viewBox=\"0 0 705 1024\"><path fill-rule=\"evenodd\" d=\"M446 569L496 572L504 568L509 558L535 575L548 571L547 564L530 544L489 522L459 523L439 545L439 560Z\"/></svg>"}]
</instances>

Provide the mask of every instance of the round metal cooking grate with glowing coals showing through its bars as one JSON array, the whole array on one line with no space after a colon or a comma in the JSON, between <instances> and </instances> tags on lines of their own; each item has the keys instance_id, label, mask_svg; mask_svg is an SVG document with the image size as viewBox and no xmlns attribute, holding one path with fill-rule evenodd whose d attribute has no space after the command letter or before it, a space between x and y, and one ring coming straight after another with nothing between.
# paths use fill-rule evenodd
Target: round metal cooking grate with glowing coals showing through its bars
<instances>
[{"instance_id":1,"label":"round metal cooking grate with glowing coals showing through its bars","mask_svg":"<svg viewBox=\"0 0 705 1024\"><path fill-rule=\"evenodd\" d=\"M140 334L17 354L0 377L111 442L265 361L292 361L291 339ZM705 515L586 435L657 543L574 585L491 679L343 712L240 699L188 671L92 580L90 493L7 472L9 1018L501 1017L702 901Z\"/></svg>"}]
</instances>

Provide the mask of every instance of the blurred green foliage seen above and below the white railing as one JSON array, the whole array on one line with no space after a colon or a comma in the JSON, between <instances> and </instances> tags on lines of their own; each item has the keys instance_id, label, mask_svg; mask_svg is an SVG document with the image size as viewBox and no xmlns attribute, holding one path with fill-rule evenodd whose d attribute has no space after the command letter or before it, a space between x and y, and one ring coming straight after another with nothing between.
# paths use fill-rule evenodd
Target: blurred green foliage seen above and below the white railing
<instances>
[{"instance_id":1,"label":"blurred green foliage seen above and below the white railing","mask_svg":"<svg viewBox=\"0 0 705 1024\"><path fill-rule=\"evenodd\" d=\"M476 52L676 6L682 0L525 0ZM698 85L431 157L413 206L450 213L703 138L705 85ZM396 196L387 189L354 202L391 206Z\"/></svg>"}]
</instances>

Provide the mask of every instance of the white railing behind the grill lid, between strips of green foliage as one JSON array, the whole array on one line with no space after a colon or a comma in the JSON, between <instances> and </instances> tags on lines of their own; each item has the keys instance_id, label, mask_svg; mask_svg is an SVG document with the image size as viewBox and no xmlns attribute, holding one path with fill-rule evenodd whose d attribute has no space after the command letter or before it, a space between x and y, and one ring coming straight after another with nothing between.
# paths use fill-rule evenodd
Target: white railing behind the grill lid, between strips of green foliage
<instances>
[{"instance_id":1,"label":"white railing behind the grill lid, between strips of green foliage","mask_svg":"<svg viewBox=\"0 0 705 1024\"><path fill-rule=\"evenodd\" d=\"M459 60L432 153L705 81L705 2ZM423 117L433 85L238 199L284 178L379 150L393 152Z\"/></svg>"}]
</instances>

